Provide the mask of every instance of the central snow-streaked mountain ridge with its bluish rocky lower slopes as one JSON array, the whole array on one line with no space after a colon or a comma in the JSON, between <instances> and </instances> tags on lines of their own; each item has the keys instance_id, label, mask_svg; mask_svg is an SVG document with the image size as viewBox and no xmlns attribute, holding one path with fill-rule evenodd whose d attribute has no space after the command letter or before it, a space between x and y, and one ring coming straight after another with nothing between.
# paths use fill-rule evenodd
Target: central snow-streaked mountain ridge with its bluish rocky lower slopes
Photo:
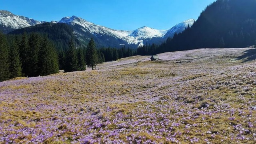
<instances>
[{"instance_id":1,"label":"central snow-streaked mountain ridge with its bluish rocky lower slopes","mask_svg":"<svg viewBox=\"0 0 256 144\"><path fill-rule=\"evenodd\" d=\"M83 34L84 32L91 33L94 35L94 39L99 38L100 40L98 41L102 42L103 44L115 44L116 47L123 45L137 47L143 46L145 42L149 44L152 44L154 42L161 43L166 40L166 38L174 36L175 33L183 32L183 30L185 30L188 26L192 26L195 20L186 20L180 24L177 24L169 30L156 30L147 26L143 26L134 31L113 30L104 26L96 25L92 22L88 22L76 16L64 17L59 22L66 23L71 26L82 26L80 27L82 31L78 30L77 26L74 28L75 31L77 31L78 36L86 37L86 35Z\"/></svg>"}]
</instances>

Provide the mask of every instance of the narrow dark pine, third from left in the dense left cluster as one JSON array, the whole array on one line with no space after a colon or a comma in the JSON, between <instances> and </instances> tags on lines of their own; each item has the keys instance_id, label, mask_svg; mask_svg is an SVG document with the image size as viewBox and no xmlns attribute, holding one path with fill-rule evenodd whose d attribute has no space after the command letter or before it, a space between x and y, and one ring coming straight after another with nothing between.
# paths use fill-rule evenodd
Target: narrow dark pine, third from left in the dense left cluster
<instances>
[{"instance_id":1,"label":"narrow dark pine, third from left in the dense left cluster","mask_svg":"<svg viewBox=\"0 0 256 144\"><path fill-rule=\"evenodd\" d=\"M30 47L28 45L28 36L26 32L22 34L22 39L20 42L20 58L22 64L22 73L25 74L25 76L28 76L28 74L30 73Z\"/></svg>"}]
</instances>

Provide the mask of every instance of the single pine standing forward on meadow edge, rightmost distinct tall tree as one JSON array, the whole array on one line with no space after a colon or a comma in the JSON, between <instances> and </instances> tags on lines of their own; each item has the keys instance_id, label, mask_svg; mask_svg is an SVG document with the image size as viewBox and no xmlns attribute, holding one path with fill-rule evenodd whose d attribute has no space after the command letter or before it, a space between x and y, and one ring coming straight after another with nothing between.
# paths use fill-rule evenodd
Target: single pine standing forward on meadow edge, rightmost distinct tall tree
<instances>
[{"instance_id":1,"label":"single pine standing forward on meadow edge, rightmost distinct tall tree","mask_svg":"<svg viewBox=\"0 0 256 144\"><path fill-rule=\"evenodd\" d=\"M92 68L94 70L94 67L96 68L96 64L98 62L98 55L96 50L96 44L93 39L90 40L87 49L86 49L86 64L88 68Z\"/></svg>"}]
</instances>

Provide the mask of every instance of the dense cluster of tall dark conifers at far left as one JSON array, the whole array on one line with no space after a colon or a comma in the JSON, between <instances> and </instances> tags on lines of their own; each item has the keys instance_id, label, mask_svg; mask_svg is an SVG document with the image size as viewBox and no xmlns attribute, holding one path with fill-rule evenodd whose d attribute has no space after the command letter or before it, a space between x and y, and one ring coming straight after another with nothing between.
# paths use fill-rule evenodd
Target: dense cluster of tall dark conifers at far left
<instances>
[{"instance_id":1,"label":"dense cluster of tall dark conifers at far left","mask_svg":"<svg viewBox=\"0 0 256 144\"><path fill-rule=\"evenodd\" d=\"M20 76L45 76L58 72L58 55L52 42L36 33L24 33L8 42L0 33L0 81Z\"/></svg>"}]
</instances>

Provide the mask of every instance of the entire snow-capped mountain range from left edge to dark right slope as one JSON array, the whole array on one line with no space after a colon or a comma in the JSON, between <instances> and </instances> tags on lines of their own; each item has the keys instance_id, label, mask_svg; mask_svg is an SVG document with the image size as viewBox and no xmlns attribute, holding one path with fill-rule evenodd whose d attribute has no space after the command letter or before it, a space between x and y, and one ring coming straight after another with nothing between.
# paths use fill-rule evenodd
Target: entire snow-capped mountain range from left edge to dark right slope
<instances>
[{"instance_id":1,"label":"entire snow-capped mountain range from left edge to dark right slope","mask_svg":"<svg viewBox=\"0 0 256 144\"><path fill-rule=\"evenodd\" d=\"M26 28L43 24L46 21L38 21L24 16L17 16L6 10L0 10L0 30L4 33L16 29ZM183 32L188 26L194 24L194 19L189 19L173 26L168 30L157 30L143 26L136 30L114 30L105 26L96 25L82 18L72 16L64 17L60 21L51 21L51 23L65 23L71 26L75 36L82 43L87 44L90 38L94 38L98 46L121 47L128 46L136 48L144 44L161 44L168 37L173 37L175 33Z\"/></svg>"}]
</instances>

